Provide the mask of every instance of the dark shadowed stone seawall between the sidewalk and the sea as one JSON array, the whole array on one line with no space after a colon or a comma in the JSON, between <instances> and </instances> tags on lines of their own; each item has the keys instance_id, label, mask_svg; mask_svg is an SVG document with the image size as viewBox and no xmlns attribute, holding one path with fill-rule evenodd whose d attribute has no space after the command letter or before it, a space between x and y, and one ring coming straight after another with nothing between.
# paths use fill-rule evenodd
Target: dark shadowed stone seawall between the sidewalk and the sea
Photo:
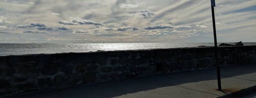
<instances>
[{"instance_id":1,"label":"dark shadowed stone seawall between the sidewalk and the sea","mask_svg":"<svg viewBox=\"0 0 256 98\"><path fill-rule=\"evenodd\" d=\"M220 65L256 63L256 46L218 47ZM215 67L214 47L0 56L0 95Z\"/></svg>"}]
</instances>

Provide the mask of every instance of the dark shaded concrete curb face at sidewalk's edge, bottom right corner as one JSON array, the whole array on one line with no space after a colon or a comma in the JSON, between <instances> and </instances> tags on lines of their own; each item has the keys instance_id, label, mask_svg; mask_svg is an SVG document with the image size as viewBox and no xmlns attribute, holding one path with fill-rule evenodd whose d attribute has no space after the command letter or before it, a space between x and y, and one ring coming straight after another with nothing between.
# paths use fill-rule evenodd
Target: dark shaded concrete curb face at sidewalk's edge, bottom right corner
<instances>
[{"instance_id":1,"label":"dark shaded concrete curb face at sidewalk's edge, bottom right corner","mask_svg":"<svg viewBox=\"0 0 256 98\"><path fill-rule=\"evenodd\" d=\"M226 94L226 95L224 95L222 97L218 97L218 98L241 98L241 97L244 97L245 95L252 94L255 92L256 92L256 86L252 86L249 88L245 88L245 89L236 91L234 93Z\"/></svg>"}]
</instances>

